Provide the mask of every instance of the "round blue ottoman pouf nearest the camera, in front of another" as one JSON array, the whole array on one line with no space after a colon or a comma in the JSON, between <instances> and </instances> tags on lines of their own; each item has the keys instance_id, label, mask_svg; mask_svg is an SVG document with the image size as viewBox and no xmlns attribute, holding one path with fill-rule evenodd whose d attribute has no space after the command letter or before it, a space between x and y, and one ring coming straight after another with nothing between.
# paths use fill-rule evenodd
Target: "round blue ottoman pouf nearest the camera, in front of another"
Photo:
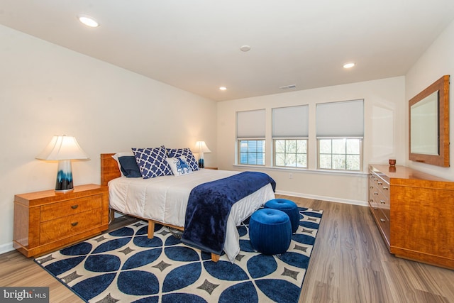
<instances>
[{"instance_id":1,"label":"round blue ottoman pouf nearest the camera, in front of another","mask_svg":"<svg viewBox=\"0 0 454 303\"><path fill-rule=\"evenodd\" d=\"M265 255L278 255L289 249L292 224L284 211L259 209L249 220L249 238L253 248Z\"/></svg>"}]
</instances>

